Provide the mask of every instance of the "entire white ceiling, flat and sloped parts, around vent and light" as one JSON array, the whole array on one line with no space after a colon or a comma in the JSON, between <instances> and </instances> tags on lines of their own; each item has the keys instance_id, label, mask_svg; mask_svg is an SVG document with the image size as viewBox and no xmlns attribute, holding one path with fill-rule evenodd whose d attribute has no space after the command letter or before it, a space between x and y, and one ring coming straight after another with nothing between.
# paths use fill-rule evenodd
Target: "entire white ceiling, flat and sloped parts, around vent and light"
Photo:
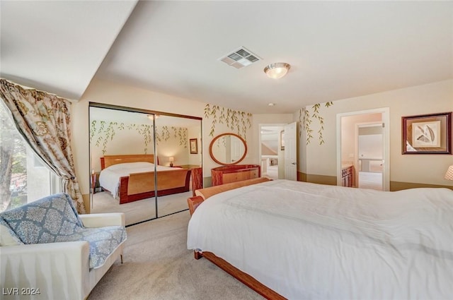
<instances>
[{"instance_id":1,"label":"entire white ceiling, flat and sloped parts, around vent and light","mask_svg":"<svg viewBox=\"0 0 453 300\"><path fill-rule=\"evenodd\" d=\"M253 113L453 78L453 1L135 4L0 1L1 77L74 100L96 77ZM263 60L218 61L241 46ZM289 73L267 78L278 61Z\"/></svg>"}]
</instances>

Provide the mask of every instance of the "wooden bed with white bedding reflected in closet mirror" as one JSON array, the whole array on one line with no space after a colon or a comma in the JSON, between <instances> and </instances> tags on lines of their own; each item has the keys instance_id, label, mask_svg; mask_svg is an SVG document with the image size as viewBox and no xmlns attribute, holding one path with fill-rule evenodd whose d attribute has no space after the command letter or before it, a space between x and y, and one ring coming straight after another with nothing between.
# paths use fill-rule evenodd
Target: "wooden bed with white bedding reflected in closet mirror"
<instances>
[{"instance_id":1,"label":"wooden bed with white bedding reflected in closet mirror","mask_svg":"<svg viewBox=\"0 0 453 300\"><path fill-rule=\"evenodd\" d=\"M156 165L157 196L189 191L190 170ZM154 197L154 155L105 155L101 157L99 184L120 204Z\"/></svg>"}]
</instances>

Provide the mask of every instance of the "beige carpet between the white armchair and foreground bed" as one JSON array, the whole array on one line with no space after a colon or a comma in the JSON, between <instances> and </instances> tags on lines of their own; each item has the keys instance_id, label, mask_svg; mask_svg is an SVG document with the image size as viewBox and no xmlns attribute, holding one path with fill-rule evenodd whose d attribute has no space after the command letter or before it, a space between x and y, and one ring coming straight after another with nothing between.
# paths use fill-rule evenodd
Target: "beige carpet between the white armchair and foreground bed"
<instances>
[{"instance_id":1,"label":"beige carpet between the white armchair and foreground bed","mask_svg":"<svg viewBox=\"0 0 453 300\"><path fill-rule=\"evenodd\" d=\"M119 260L88 300L263 299L209 260L186 247L188 211L127 227Z\"/></svg>"}]
</instances>

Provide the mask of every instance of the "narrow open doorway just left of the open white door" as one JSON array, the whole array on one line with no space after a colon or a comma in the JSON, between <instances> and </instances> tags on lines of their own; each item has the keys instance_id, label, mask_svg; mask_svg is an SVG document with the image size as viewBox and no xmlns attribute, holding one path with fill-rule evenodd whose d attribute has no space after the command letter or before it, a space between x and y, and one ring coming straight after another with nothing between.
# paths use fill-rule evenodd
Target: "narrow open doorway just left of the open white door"
<instances>
[{"instance_id":1,"label":"narrow open doorway just left of the open white door","mask_svg":"<svg viewBox=\"0 0 453 300\"><path fill-rule=\"evenodd\" d=\"M270 179L285 177L285 152L282 151L282 125L260 125L261 176Z\"/></svg>"}]
</instances>

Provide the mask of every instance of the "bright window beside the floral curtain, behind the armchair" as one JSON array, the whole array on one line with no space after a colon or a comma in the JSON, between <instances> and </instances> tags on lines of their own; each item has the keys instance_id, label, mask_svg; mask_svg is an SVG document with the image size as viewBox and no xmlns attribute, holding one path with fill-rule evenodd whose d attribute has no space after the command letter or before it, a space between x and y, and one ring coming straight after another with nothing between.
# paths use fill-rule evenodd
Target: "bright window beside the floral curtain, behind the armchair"
<instances>
[{"instance_id":1,"label":"bright window beside the floral curtain, behind the armchair","mask_svg":"<svg viewBox=\"0 0 453 300\"><path fill-rule=\"evenodd\" d=\"M0 104L0 212L62 191L61 180L35 155Z\"/></svg>"}]
</instances>

